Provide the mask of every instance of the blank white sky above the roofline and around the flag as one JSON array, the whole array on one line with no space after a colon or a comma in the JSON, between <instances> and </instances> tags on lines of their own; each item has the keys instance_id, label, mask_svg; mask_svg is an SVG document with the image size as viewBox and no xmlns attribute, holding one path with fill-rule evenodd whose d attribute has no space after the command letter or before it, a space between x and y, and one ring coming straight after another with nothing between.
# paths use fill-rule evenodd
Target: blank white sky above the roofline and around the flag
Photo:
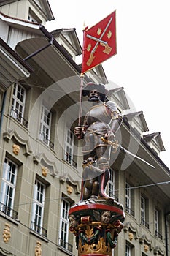
<instances>
[{"instance_id":1,"label":"blank white sky above the roofline and around the flag","mask_svg":"<svg viewBox=\"0 0 170 256\"><path fill-rule=\"evenodd\" d=\"M75 28L82 45L82 28L93 26L116 10L117 55L102 65L107 79L123 86L136 111L144 113L149 132L161 132L170 168L169 0L49 0L55 16L47 30ZM146 159L147 160L147 159Z\"/></svg>"}]
</instances>

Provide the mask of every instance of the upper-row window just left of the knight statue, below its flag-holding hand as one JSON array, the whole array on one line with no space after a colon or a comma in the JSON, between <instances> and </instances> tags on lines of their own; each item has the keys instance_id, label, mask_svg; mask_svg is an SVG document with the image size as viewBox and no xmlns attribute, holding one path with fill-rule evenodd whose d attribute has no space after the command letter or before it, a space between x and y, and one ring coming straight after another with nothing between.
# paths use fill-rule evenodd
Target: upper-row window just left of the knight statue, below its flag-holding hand
<instances>
[{"instance_id":1,"label":"upper-row window just left of the knight statue, below its flag-holding hand","mask_svg":"<svg viewBox=\"0 0 170 256\"><path fill-rule=\"evenodd\" d=\"M74 167L77 166L77 163L73 159L74 154L74 135L73 132L66 128L66 143L65 143L65 152L64 152L64 159L66 162L69 162L70 165Z\"/></svg>"}]
</instances>

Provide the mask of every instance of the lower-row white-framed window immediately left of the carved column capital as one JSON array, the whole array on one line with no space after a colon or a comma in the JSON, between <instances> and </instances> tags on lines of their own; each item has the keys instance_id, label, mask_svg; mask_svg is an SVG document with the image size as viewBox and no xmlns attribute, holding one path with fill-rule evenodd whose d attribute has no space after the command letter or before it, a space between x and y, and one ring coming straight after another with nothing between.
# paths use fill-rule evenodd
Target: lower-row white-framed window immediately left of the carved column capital
<instances>
[{"instance_id":1,"label":"lower-row white-framed window immediately left of the carved column capital","mask_svg":"<svg viewBox=\"0 0 170 256\"><path fill-rule=\"evenodd\" d=\"M70 252L72 252L72 245L68 243L69 241L69 218L68 218L69 208L70 208L70 203L66 200L62 200L59 244L64 249L68 249Z\"/></svg>"}]
</instances>

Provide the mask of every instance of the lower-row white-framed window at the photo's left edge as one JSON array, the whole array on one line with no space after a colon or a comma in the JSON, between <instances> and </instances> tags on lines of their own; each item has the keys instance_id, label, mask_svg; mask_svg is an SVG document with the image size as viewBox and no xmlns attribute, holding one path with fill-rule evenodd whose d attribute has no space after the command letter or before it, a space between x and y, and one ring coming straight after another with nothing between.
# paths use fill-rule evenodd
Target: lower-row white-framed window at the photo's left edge
<instances>
[{"instance_id":1,"label":"lower-row white-framed window at the photo's left edge","mask_svg":"<svg viewBox=\"0 0 170 256\"><path fill-rule=\"evenodd\" d=\"M17 174L18 166L5 158L1 182L0 211L13 219L18 217L18 213L13 210Z\"/></svg>"}]
</instances>

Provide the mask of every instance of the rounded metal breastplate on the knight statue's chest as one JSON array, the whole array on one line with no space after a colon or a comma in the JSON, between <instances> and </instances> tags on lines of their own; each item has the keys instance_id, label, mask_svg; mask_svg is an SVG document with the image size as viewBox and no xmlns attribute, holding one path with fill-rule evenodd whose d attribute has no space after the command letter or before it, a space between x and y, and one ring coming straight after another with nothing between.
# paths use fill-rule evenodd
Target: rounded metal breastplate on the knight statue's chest
<instances>
[{"instance_id":1,"label":"rounded metal breastplate on the knight statue's chest","mask_svg":"<svg viewBox=\"0 0 170 256\"><path fill-rule=\"evenodd\" d=\"M100 104L93 106L93 108L90 108L88 112L87 122L89 126L96 121L109 124L111 118L112 117L109 109L103 104Z\"/></svg>"}]
</instances>

